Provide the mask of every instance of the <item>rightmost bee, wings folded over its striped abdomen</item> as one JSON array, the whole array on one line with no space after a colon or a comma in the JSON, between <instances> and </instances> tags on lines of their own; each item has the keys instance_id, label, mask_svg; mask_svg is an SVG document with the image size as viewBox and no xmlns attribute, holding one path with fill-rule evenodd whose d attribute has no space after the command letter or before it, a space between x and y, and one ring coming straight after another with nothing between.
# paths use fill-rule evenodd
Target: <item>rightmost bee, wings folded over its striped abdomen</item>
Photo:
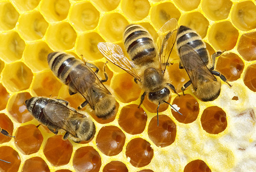
<instances>
[{"instance_id":1,"label":"rightmost bee, wings folded over its striped abdomen","mask_svg":"<svg viewBox=\"0 0 256 172\"><path fill-rule=\"evenodd\" d=\"M221 82L227 82L225 76L214 70L215 58L224 51L217 51L212 54L209 63L209 52L205 43L196 31L181 25L177 36L178 54L181 59L179 68L185 68L190 80L184 84L181 90L184 91L192 83L194 94L202 101L213 101L220 95ZM231 85L228 83L231 87Z\"/></svg>"}]
</instances>

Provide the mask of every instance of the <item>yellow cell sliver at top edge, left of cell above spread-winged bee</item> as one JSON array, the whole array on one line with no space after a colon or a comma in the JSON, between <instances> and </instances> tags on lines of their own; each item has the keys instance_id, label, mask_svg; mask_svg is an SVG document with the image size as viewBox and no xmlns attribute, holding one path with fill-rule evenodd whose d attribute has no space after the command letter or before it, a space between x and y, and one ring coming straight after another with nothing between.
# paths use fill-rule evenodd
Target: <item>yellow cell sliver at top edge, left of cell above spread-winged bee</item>
<instances>
[{"instance_id":1,"label":"yellow cell sliver at top edge, left of cell above spread-winged bee","mask_svg":"<svg viewBox=\"0 0 256 172\"><path fill-rule=\"evenodd\" d=\"M111 11L114 10L120 3L120 0L92 0L93 3L101 11Z\"/></svg>"}]
</instances>

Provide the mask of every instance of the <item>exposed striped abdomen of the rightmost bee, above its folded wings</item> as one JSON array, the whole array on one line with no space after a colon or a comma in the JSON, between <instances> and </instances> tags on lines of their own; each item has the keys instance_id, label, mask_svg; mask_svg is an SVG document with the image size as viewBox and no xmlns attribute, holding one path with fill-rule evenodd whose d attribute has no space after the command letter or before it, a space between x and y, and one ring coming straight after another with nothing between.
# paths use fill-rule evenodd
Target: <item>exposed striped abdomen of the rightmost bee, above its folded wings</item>
<instances>
[{"instance_id":1,"label":"exposed striped abdomen of the rightmost bee, above its folded wings","mask_svg":"<svg viewBox=\"0 0 256 172\"><path fill-rule=\"evenodd\" d=\"M177 48L178 53L180 53L181 46L189 44L193 47L193 50L202 58L204 63L208 64L209 53L206 49L205 43L202 41L202 38L191 28L181 25L178 29L177 35Z\"/></svg>"}]
</instances>

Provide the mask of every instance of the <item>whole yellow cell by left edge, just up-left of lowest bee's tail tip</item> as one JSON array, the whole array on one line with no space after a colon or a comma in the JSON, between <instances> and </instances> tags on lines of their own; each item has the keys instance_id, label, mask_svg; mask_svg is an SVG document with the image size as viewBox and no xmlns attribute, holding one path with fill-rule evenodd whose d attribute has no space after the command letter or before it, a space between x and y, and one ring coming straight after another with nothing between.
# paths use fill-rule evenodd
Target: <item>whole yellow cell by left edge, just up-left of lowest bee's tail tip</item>
<instances>
[{"instance_id":1,"label":"whole yellow cell by left edge, just up-left of lowest bee's tail tip","mask_svg":"<svg viewBox=\"0 0 256 172\"><path fill-rule=\"evenodd\" d=\"M26 90L33 79L33 73L22 62L7 64L3 70L3 83L12 92Z\"/></svg>"}]
</instances>

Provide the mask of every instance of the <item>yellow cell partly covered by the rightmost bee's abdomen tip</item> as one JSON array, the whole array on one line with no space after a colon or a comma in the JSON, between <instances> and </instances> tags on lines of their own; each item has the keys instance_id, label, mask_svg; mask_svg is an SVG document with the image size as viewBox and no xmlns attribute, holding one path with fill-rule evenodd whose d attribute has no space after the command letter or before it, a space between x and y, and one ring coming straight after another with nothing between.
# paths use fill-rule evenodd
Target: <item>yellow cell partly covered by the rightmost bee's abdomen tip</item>
<instances>
[{"instance_id":1,"label":"yellow cell partly covered by the rightmost bee's abdomen tip","mask_svg":"<svg viewBox=\"0 0 256 172\"><path fill-rule=\"evenodd\" d=\"M182 15L180 25L185 25L193 30L196 30L197 33L204 38L207 34L209 21L201 13L194 12Z\"/></svg>"}]
</instances>

